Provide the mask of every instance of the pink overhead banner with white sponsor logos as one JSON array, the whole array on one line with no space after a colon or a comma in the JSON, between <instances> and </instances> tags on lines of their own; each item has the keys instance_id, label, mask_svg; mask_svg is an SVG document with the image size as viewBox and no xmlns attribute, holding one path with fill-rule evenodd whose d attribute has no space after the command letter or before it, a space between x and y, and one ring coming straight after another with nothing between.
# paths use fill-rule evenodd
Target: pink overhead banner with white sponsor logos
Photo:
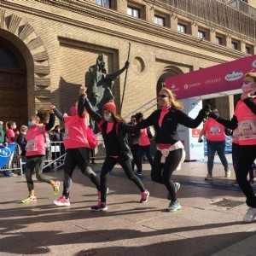
<instances>
[{"instance_id":1,"label":"pink overhead banner with white sponsor logos","mask_svg":"<svg viewBox=\"0 0 256 256\"><path fill-rule=\"evenodd\" d=\"M177 99L185 99L240 89L244 75L253 69L256 70L256 55L183 73L167 78L165 82Z\"/></svg>"}]
</instances>

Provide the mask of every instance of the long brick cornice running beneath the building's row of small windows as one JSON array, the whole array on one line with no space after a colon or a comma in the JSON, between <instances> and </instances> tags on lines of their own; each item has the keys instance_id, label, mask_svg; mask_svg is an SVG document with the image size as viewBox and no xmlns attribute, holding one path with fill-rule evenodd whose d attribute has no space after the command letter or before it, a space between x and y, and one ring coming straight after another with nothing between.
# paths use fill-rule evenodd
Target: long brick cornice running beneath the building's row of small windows
<instances>
[{"instance_id":1,"label":"long brick cornice running beneath the building's row of small windows","mask_svg":"<svg viewBox=\"0 0 256 256\"><path fill-rule=\"evenodd\" d=\"M154 37L165 38L167 40L170 40L171 42L175 42L176 44L177 43L183 44L183 47L181 47L181 48L172 47L172 51L177 52L179 54L186 54L186 55L190 55L190 56L200 57L201 59L206 59L208 61L215 61L215 62L219 62L219 63L224 62L224 60L220 59L220 58L215 58L210 55L203 55L200 53L195 53L194 51L191 51L188 49L184 49L186 46L195 47L198 49L199 45L200 45L200 49L207 50L208 52L212 52L212 53L218 52L219 55L228 56L228 57L234 58L234 59L238 59L238 58L247 56L246 54L241 53L239 51L234 51L232 49L228 49L227 47L216 45L211 42L206 42L206 41L201 42L198 38L192 37L187 34L182 34L180 32L173 31L170 28L156 26L154 24L148 23L145 20L137 19L136 23L135 23L134 22L135 18L133 18L129 15L121 14L112 9L102 8L101 6L98 6L93 3L88 3L88 2L81 3L79 1L75 1L75 2L69 1L68 2L67 0L66 1L65 0L62 0L62 1L36 0L36 1L40 2L40 3L45 3L45 4L55 6L57 8L67 9L71 12L74 12L74 13L77 13L80 15L86 15L86 16L95 18L97 20L102 20L102 21L105 21L108 23L112 23L114 25L118 24L118 26L125 27L125 28L131 29L131 30L135 30L137 32L144 32L144 33L150 34ZM117 30L109 29L106 26L96 26L94 24L90 24L90 23L86 22L85 20L84 21L74 20L67 16L52 14L52 13L47 12L44 9L35 9L35 8L29 7L27 5L20 4L18 1L11 1L11 2L4 1L1 3L1 6L5 7L6 9L22 11L23 13L25 12L30 15L41 16L46 19L55 20L58 22L64 22L69 25L83 27L83 28L90 29L90 30L93 30L96 32L104 32L105 34L108 34L108 35L115 34L119 38L124 38L126 40L138 42L141 44L148 44L150 46L158 47L161 49L170 49L170 44L163 44L163 43L159 43L159 42L154 42L153 40L139 38L132 34L127 34L125 32L120 32Z\"/></svg>"}]
</instances>

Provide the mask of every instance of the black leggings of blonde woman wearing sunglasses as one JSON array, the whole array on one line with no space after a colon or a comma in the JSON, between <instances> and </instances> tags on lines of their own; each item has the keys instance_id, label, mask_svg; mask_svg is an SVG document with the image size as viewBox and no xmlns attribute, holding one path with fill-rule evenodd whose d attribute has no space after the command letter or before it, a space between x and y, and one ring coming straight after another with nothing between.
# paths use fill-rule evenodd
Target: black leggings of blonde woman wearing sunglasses
<instances>
[{"instance_id":1,"label":"black leggings of blonde woman wearing sunglasses","mask_svg":"<svg viewBox=\"0 0 256 256\"><path fill-rule=\"evenodd\" d=\"M160 163L162 154L159 150L154 155L153 167L151 171L151 179L156 183L165 184L166 189L171 195L172 201L177 201L176 192L172 183L172 172L177 169L177 166L182 157L182 149L170 151L166 157L164 164Z\"/></svg>"}]
</instances>

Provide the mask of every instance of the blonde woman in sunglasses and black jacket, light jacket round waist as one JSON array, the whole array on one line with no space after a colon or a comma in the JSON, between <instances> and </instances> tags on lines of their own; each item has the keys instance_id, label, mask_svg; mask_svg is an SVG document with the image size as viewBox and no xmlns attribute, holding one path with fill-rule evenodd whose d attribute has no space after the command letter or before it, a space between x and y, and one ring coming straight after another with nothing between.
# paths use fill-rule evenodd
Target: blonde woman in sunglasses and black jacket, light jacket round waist
<instances>
[{"instance_id":1,"label":"blonde woman in sunglasses and black jacket, light jacket round waist","mask_svg":"<svg viewBox=\"0 0 256 256\"><path fill-rule=\"evenodd\" d=\"M172 183L172 172L179 169L179 165L184 160L183 143L177 135L177 125L184 125L189 128L195 128L201 124L207 112L210 112L210 105L202 108L195 119L183 113L181 102L177 102L172 91L162 88L158 95L159 109L142 120L138 126L154 126L155 142L157 151L154 155L151 178L156 183L165 184L169 192L168 199L171 200L166 212L175 212L181 208L177 201L176 191L179 189L179 183Z\"/></svg>"}]
</instances>

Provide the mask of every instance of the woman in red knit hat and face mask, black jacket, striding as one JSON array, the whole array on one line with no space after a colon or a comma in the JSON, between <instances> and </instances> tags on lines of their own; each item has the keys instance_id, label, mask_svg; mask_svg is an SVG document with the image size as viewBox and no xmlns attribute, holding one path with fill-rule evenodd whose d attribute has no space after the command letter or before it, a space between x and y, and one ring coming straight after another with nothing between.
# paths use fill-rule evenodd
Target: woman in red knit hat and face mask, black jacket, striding
<instances>
[{"instance_id":1,"label":"woman in red knit hat and face mask, black jacket, striding","mask_svg":"<svg viewBox=\"0 0 256 256\"><path fill-rule=\"evenodd\" d=\"M101 201L95 206L91 207L92 211L107 211L106 204L107 198L107 176L108 172L111 172L116 164L122 166L126 176L131 179L133 183L140 189L141 203L148 201L149 192L143 186L141 180L133 173L131 167L131 148L129 148L126 133L129 130L129 125L125 124L125 119L117 115L116 106L113 102L108 102L103 106L103 117L101 114L96 113L90 102L85 98L86 88L81 88L81 96L79 98L79 104L84 103L84 107L90 114L90 117L96 121L99 125L100 131L106 147L106 159L102 166L102 172L100 177ZM132 125L131 125L132 126Z\"/></svg>"}]
</instances>

